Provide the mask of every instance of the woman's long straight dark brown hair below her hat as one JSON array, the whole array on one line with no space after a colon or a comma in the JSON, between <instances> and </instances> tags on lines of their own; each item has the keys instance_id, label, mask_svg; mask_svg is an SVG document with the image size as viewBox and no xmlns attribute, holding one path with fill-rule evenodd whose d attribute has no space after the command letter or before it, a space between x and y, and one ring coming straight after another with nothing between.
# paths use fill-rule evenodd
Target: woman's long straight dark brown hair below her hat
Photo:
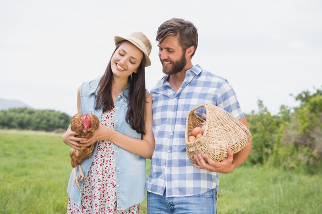
<instances>
[{"instance_id":1,"label":"woman's long straight dark brown hair below her hat","mask_svg":"<svg viewBox=\"0 0 322 214\"><path fill-rule=\"evenodd\" d=\"M112 54L114 55L117 48L122 43L118 44ZM112 57L111 57L112 59ZM108 111L114 107L113 98L112 98L112 82L113 82L113 72L111 68L111 59L108 64L108 67L105 70L104 75L102 76L98 84L98 93L96 97L96 106L95 109L103 109ZM126 94L126 99L128 102L128 111L126 114L126 121L130 124L131 128L136 130L136 132L145 134L145 119L146 119L146 82L145 82L145 56L143 55L142 61L137 68L136 73L128 78L127 89L129 93Z\"/></svg>"}]
</instances>

